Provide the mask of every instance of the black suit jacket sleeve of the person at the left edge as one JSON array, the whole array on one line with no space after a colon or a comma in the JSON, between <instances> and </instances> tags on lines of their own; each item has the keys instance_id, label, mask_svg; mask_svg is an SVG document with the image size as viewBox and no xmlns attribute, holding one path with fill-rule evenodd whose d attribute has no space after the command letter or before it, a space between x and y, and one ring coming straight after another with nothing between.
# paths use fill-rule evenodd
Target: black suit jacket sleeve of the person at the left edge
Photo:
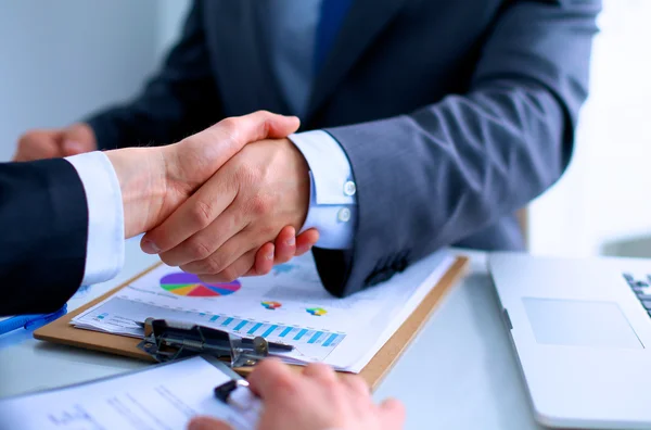
<instances>
[{"instance_id":1,"label":"black suit jacket sleeve of the person at the left edge","mask_svg":"<svg viewBox=\"0 0 651 430\"><path fill-rule=\"evenodd\" d=\"M84 278L88 208L65 160L0 164L0 315L54 312Z\"/></svg>"}]
</instances>

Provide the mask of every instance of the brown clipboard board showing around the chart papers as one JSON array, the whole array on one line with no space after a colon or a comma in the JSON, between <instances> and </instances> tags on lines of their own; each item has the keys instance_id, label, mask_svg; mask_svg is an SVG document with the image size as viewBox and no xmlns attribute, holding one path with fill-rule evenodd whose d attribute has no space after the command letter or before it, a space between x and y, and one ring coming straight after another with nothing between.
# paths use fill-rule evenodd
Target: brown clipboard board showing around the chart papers
<instances>
[{"instance_id":1,"label":"brown clipboard board showing around the chart papers","mask_svg":"<svg viewBox=\"0 0 651 430\"><path fill-rule=\"evenodd\" d=\"M438 283L427 293L416 311L403 322L391 339L378 351L371 361L359 372L359 376L374 390L386 374L393 368L394 364L400 357L403 352L411 343L413 338L423 328L430 315L443 302L443 299L451 288L465 275L469 260L465 256L456 256L446 274ZM138 358L154 363L151 355L137 347L140 339L128 338L118 334L104 333L100 331L82 330L73 327L69 322L77 315L86 312L90 307L104 301L108 296L133 282L136 279L150 273L163 263L155 264L149 269L127 280L119 287L114 288L100 298L87 303L72 313L43 326L34 332L34 338L38 340L60 343L64 345L78 346L87 350L101 351L110 354L122 355L131 358ZM297 369L301 366L294 366ZM238 374L246 376L251 372L251 367L241 367L234 369Z\"/></svg>"}]
</instances>

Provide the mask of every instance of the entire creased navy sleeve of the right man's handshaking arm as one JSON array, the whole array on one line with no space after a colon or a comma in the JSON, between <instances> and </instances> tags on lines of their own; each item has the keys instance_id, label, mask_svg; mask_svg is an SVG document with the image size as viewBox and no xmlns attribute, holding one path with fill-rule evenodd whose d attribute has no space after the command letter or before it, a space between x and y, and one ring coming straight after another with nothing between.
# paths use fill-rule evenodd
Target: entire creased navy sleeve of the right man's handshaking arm
<instances>
[{"instance_id":1,"label":"entire creased navy sleeve of the right man's handshaking arm","mask_svg":"<svg viewBox=\"0 0 651 430\"><path fill-rule=\"evenodd\" d=\"M354 250L316 250L329 291L378 283L513 214L566 167L600 2L512 1L471 89L409 115L328 129L357 182Z\"/></svg>"}]
</instances>

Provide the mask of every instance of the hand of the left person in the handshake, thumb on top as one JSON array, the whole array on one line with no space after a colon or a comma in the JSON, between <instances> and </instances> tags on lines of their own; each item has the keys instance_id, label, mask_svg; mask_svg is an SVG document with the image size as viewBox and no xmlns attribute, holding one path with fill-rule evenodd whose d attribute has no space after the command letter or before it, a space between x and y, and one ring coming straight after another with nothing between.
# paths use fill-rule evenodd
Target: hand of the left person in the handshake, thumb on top
<instances>
[{"instance_id":1,"label":"hand of the left person in the handshake, thumb on top","mask_svg":"<svg viewBox=\"0 0 651 430\"><path fill-rule=\"evenodd\" d=\"M194 199L195 191L213 181L215 172L247 143L288 136L298 124L296 117L256 112L224 119L167 147L106 152L123 194L125 237L153 229L191 195Z\"/></svg>"}]
</instances>

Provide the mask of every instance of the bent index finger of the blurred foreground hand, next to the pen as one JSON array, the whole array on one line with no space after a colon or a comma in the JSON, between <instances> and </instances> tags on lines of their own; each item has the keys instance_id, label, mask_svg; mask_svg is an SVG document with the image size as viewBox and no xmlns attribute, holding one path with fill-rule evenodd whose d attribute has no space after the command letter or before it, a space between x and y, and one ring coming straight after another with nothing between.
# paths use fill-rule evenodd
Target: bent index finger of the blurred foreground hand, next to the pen
<instances>
[{"instance_id":1,"label":"bent index finger of the blurred foreground hand, next to the pen","mask_svg":"<svg viewBox=\"0 0 651 430\"><path fill-rule=\"evenodd\" d=\"M278 358L265 358L248 376L248 384L251 390L264 401L293 391L297 378L298 376L292 374L290 367Z\"/></svg>"}]
</instances>

